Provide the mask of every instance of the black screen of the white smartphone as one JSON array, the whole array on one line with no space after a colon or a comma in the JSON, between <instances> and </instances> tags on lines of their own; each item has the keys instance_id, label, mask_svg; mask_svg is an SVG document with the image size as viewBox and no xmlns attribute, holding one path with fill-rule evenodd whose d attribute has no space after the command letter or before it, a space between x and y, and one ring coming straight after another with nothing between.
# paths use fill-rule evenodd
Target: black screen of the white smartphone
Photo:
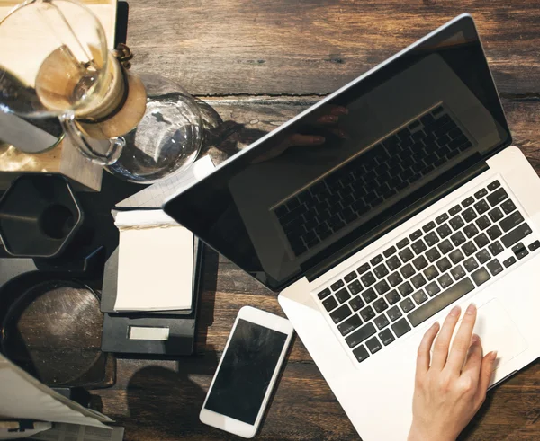
<instances>
[{"instance_id":1,"label":"black screen of the white smartphone","mask_svg":"<svg viewBox=\"0 0 540 441\"><path fill-rule=\"evenodd\" d=\"M239 319L205 409L255 424L287 335Z\"/></svg>"}]
</instances>

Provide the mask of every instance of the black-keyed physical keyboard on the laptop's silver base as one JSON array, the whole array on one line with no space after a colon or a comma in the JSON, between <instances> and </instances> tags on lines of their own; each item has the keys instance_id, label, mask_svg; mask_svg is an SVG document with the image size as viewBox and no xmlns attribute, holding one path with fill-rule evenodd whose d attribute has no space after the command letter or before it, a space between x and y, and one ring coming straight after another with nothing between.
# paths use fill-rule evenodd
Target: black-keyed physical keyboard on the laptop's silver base
<instances>
[{"instance_id":1,"label":"black-keyed physical keyboard on the laptop's silver base","mask_svg":"<svg viewBox=\"0 0 540 441\"><path fill-rule=\"evenodd\" d=\"M362 362L538 250L532 233L492 181L317 296Z\"/></svg>"}]
</instances>

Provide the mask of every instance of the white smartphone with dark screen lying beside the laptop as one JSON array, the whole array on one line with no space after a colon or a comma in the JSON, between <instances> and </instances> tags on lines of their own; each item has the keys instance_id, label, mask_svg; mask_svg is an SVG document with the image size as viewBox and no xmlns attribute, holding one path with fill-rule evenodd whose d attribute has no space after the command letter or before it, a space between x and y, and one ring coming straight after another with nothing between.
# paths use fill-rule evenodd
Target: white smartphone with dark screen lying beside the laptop
<instances>
[{"instance_id":1,"label":"white smartphone with dark screen lying beside the laptop","mask_svg":"<svg viewBox=\"0 0 540 441\"><path fill-rule=\"evenodd\" d=\"M202 404L201 421L255 437L292 338L288 320L250 306L240 309Z\"/></svg>"}]
</instances>

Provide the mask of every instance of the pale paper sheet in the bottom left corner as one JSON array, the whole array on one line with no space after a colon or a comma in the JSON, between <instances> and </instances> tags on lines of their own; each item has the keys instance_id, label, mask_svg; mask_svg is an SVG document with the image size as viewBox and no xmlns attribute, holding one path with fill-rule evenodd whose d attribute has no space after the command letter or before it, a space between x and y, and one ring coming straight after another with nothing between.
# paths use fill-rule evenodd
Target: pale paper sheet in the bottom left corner
<instances>
[{"instance_id":1,"label":"pale paper sheet in the bottom left corner","mask_svg":"<svg viewBox=\"0 0 540 441\"><path fill-rule=\"evenodd\" d=\"M107 428L112 421L54 392L0 354L0 419L38 419Z\"/></svg>"}]
</instances>

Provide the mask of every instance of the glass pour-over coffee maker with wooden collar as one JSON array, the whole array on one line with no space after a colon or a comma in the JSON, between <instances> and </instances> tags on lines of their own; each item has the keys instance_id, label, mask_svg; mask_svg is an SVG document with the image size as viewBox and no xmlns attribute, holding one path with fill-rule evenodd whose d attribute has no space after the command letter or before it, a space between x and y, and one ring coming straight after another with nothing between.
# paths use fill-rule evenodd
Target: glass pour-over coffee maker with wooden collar
<instances>
[{"instance_id":1,"label":"glass pour-over coffee maker with wooden collar","mask_svg":"<svg viewBox=\"0 0 540 441\"><path fill-rule=\"evenodd\" d=\"M82 154L122 179L159 181L199 153L202 119L193 97L164 77L127 69L84 5L16 6L0 22L0 48L0 110L58 117Z\"/></svg>"}]
</instances>

